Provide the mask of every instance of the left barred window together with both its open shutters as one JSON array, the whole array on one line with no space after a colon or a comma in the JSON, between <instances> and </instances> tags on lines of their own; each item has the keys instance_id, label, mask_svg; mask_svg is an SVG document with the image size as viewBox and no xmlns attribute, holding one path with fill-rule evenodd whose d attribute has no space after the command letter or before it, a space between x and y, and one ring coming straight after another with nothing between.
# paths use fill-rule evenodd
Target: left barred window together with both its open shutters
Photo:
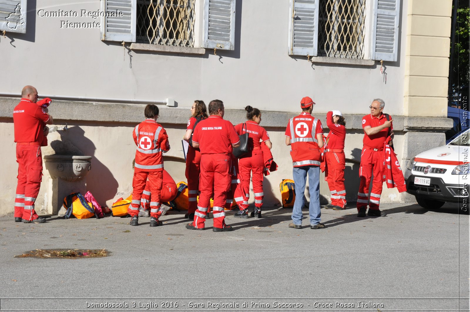
<instances>
[{"instance_id":1,"label":"left barred window together with both its open shutters","mask_svg":"<svg viewBox=\"0 0 470 312\"><path fill-rule=\"evenodd\" d=\"M151 44L154 45L150 48L152 51L161 48L165 52L181 52L180 47L233 50L235 2L236 0L101 0L101 9L108 14L101 17L101 39L132 42L138 49L144 50L148 47L142 46ZM200 8L197 12L196 7ZM196 19L200 22L196 23ZM157 45L166 47L156 47ZM194 49L183 50L194 52Z\"/></svg>"}]
</instances>

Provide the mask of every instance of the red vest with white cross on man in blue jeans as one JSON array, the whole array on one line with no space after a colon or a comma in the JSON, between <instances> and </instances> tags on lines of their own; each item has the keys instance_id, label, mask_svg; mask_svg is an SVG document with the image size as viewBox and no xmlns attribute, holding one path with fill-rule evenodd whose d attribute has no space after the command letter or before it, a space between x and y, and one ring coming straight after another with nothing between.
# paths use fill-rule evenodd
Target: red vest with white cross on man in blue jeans
<instances>
[{"instance_id":1,"label":"red vest with white cross on man in blue jeans","mask_svg":"<svg viewBox=\"0 0 470 312\"><path fill-rule=\"evenodd\" d=\"M290 156L294 167L321 164L321 151L315 129L318 118L310 114L301 114L289 119L290 127Z\"/></svg>"}]
</instances>

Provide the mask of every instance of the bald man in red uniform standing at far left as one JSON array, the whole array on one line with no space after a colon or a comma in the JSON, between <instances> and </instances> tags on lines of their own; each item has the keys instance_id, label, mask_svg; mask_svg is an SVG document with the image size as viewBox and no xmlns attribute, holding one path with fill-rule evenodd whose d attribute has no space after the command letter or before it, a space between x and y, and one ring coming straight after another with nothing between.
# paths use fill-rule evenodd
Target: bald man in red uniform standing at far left
<instances>
[{"instance_id":1,"label":"bald man in red uniform standing at far left","mask_svg":"<svg viewBox=\"0 0 470 312\"><path fill-rule=\"evenodd\" d=\"M41 143L47 135L46 124L51 125L53 119L36 103L38 91L35 87L25 86L21 97L13 110L18 163L15 222L44 223L46 219L39 218L34 211L34 202L42 180Z\"/></svg>"}]
</instances>

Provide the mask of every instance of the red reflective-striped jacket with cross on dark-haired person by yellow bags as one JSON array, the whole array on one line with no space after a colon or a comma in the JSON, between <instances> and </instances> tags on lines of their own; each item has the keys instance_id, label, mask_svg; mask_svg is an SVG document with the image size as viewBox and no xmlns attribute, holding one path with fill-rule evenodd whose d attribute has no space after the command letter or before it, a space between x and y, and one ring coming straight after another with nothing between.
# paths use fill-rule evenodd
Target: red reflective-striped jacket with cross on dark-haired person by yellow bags
<instances>
[{"instance_id":1,"label":"red reflective-striped jacket with cross on dark-haired person by yellow bags","mask_svg":"<svg viewBox=\"0 0 470 312\"><path fill-rule=\"evenodd\" d=\"M163 171L162 151L170 149L165 129L153 119L145 119L133 131L135 151L135 170Z\"/></svg>"}]
</instances>

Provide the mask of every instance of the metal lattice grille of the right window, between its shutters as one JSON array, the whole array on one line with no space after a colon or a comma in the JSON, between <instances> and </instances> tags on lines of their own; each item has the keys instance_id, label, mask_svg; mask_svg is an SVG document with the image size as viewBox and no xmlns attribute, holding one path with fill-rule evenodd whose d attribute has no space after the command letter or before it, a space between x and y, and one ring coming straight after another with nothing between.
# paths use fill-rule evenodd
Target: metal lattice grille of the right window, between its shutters
<instances>
[{"instance_id":1,"label":"metal lattice grille of the right window, between its shutters","mask_svg":"<svg viewBox=\"0 0 470 312\"><path fill-rule=\"evenodd\" d=\"M364 58L366 0L320 0L318 56Z\"/></svg>"}]
</instances>

